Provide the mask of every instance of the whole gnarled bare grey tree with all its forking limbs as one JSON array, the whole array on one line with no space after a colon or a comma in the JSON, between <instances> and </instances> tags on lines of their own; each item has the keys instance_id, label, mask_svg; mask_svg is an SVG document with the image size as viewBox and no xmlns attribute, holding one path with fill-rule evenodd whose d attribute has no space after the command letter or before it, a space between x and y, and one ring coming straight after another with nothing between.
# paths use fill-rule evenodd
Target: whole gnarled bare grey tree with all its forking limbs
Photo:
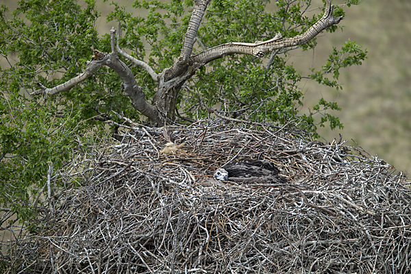
<instances>
[{"instance_id":1,"label":"whole gnarled bare grey tree with all its forking limbs","mask_svg":"<svg viewBox=\"0 0 411 274\"><path fill-rule=\"evenodd\" d=\"M190 23L184 38L182 52L179 58L177 58L175 64L173 64L171 68L165 69L162 73L155 73L155 71L148 64L140 60L136 60L136 58L128 55L125 51L122 51L118 45L116 47L116 30L113 28L110 34L112 44L111 53L101 53L99 51L95 51L92 61L88 62L86 70L82 73L82 75L74 77L66 83L55 86L54 88L46 88L45 86L39 84L40 89L34 91L32 95L44 95L47 98L49 95L55 95L58 92L68 91L90 77L92 73L94 73L95 69L98 69L101 66L109 66L117 74L119 74L123 80L125 95L131 99L133 107L142 115L147 116L151 125L160 126L164 125L166 119L173 120L175 118L175 100L179 90L182 88L184 82L186 82L187 79L190 79L190 77L192 77L192 75L194 75L197 69L201 66L204 66L212 60L223 58L226 55L248 54L255 55L260 58L269 51L303 45L324 29L327 29L327 27L336 25L343 19L343 17L332 16L334 6L331 4L331 0L326 0L325 12L322 18L312 25L312 27L310 27L310 29L308 29L305 33L299 36L282 38L280 34L277 34L274 38L264 42L229 42L191 56L192 47L195 44L199 25L210 1L211 0L195 1L195 8L192 11ZM154 81L158 82L157 92L153 97L153 105L147 103L142 88L136 84L132 71L124 62L119 60L118 53L131 60L133 64L145 69Z\"/></svg>"}]
</instances>

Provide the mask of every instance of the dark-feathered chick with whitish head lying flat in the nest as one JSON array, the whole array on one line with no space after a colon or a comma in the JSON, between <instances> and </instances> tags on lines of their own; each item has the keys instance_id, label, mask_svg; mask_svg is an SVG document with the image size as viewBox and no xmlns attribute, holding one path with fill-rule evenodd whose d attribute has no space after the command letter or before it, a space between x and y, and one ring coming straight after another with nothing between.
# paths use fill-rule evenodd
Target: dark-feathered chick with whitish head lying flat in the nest
<instances>
[{"instance_id":1,"label":"dark-feathered chick with whitish head lying flat in the nest","mask_svg":"<svg viewBox=\"0 0 411 274\"><path fill-rule=\"evenodd\" d=\"M214 179L243 184L277 184L286 183L287 179L279 177L279 170L269 161L240 160L217 169Z\"/></svg>"}]
</instances>

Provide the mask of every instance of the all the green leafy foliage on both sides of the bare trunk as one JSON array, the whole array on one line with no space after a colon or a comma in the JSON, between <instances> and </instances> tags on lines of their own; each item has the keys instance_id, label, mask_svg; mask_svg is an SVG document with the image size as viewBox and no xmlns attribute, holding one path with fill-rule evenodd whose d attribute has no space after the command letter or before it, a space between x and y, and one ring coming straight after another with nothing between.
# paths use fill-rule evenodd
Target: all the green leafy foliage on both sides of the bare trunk
<instances>
[{"instance_id":1,"label":"all the green leafy foliage on both sides of the bare trunk","mask_svg":"<svg viewBox=\"0 0 411 274\"><path fill-rule=\"evenodd\" d=\"M1 6L0 55L7 66L0 74L0 204L29 219L31 203L46 184L52 164L58 169L74 160L105 134L99 120L116 119L112 110L131 119L141 117L129 99L121 93L121 82L113 71L101 68L81 85L47 100L29 97L38 88L62 84L75 77L90 60L92 49L110 51L108 34L99 36L95 21L94 0L80 7L75 0L22 0L17 10L8 14ZM348 0L347 5L358 4ZM273 12L267 12L269 1L213 0L199 29L194 54L225 42L268 40L275 34L292 37L306 31L321 18L321 9L308 16L310 0L275 1ZM145 60L160 73L178 58L190 20L194 1L135 1L140 14L127 12L112 3L108 21L119 21L123 36L119 45ZM247 14L247 16L245 16ZM335 16L343 16L338 6ZM337 26L327 32L336 32ZM316 45L315 38L301 46L304 50ZM290 119L315 134L316 125L343 127L337 117L326 110L340 110L338 105L321 99L314 113L300 115L298 106L303 94L299 82L309 77L319 84L340 88L339 69L361 64L366 51L348 41L332 54L319 71L301 76L288 63L292 48L275 51L266 58L232 55L214 60L197 71L183 86L177 98L185 116L204 117L208 106L221 105L226 115L234 118L285 124ZM127 60L125 60L127 62ZM157 84L140 68L132 71L146 97L152 97ZM313 114L321 112L321 121ZM31 198L30 198L31 197Z\"/></svg>"}]
</instances>

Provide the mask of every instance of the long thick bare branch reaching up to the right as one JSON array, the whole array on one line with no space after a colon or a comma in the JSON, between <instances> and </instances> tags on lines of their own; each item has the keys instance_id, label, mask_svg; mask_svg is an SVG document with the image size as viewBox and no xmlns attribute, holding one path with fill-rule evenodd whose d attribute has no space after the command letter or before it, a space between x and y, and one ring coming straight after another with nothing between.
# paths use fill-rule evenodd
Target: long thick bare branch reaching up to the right
<instances>
[{"instance_id":1,"label":"long thick bare branch reaching up to the right","mask_svg":"<svg viewBox=\"0 0 411 274\"><path fill-rule=\"evenodd\" d=\"M314 25L312 25L312 27L310 27L310 29L308 29L305 33L299 36L295 36L292 38L282 38L281 34L277 34L274 38L264 42L229 42L227 44L213 47L211 49L208 49L197 55L192 56L190 58L190 64L194 62L207 64L212 60L223 58L226 55L232 54L248 54L254 55L256 57L263 57L269 51L306 44L317 34L322 32L324 29L327 29L327 27L331 27L332 25L340 23L343 17L332 16L333 10L334 5L331 4L331 0L326 0L325 12L323 17Z\"/></svg>"}]
</instances>

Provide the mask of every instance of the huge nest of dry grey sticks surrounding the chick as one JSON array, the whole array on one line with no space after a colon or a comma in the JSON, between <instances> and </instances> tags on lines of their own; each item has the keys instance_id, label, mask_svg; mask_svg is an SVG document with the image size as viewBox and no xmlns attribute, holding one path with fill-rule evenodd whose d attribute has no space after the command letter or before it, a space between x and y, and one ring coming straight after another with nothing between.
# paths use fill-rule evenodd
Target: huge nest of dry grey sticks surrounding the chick
<instances>
[{"instance_id":1,"label":"huge nest of dry grey sticks surrounding the chick","mask_svg":"<svg viewBox=\"0 0 411 274\"><path fill-rule=\"evenodd\" d=\"M269 128L133 125L58 171L51 184L67 187L2 260L10 273L411 273L403 173L344 142ZM241 159L272 162L288 183L202 184Z\"/></svg>"}]
</instances>

